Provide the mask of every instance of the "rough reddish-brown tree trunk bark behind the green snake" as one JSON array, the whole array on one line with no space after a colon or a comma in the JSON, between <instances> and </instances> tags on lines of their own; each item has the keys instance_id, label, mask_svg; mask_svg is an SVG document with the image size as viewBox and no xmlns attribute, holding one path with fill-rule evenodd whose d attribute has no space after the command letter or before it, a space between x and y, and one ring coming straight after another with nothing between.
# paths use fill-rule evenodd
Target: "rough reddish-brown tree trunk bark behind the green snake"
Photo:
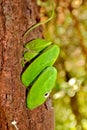
<instances>
[{"instance_id":1,"label":"rough reddish-brown tree trunk bark behind the green snake","mask_svg":"<svg viewBox=\"0 0 87 130\"><path fill-rule=\"evenodd\" d=\"M0 0L0 130L54 129L49 101L33 111L27 109L26 88L20 80L23 45L42 37L42 30L34 29L27 39L22 36L38 21L34 0Z\"/></svg>"}]
</instances>

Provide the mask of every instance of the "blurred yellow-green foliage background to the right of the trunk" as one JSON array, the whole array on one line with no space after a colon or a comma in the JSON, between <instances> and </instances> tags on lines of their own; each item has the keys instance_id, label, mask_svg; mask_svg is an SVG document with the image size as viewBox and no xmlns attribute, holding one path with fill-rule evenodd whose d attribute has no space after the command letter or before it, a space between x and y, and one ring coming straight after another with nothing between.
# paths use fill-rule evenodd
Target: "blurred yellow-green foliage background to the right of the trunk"
<instances>
[{"instance_id":1,"label":"blurred yellow-green foliage background to the right of the trunk","mask_svg":"<svg viewBox=\"0 0 87 130\"><path fill-rule=\"evenodd\" d=\"M48 0L37 3L44 21L52 8ZM44 37L61 49L52 92L55 130L87 130L87 0L55 0L54 6L55 16L44 25Z\"/></svg>"}]
</instances>

